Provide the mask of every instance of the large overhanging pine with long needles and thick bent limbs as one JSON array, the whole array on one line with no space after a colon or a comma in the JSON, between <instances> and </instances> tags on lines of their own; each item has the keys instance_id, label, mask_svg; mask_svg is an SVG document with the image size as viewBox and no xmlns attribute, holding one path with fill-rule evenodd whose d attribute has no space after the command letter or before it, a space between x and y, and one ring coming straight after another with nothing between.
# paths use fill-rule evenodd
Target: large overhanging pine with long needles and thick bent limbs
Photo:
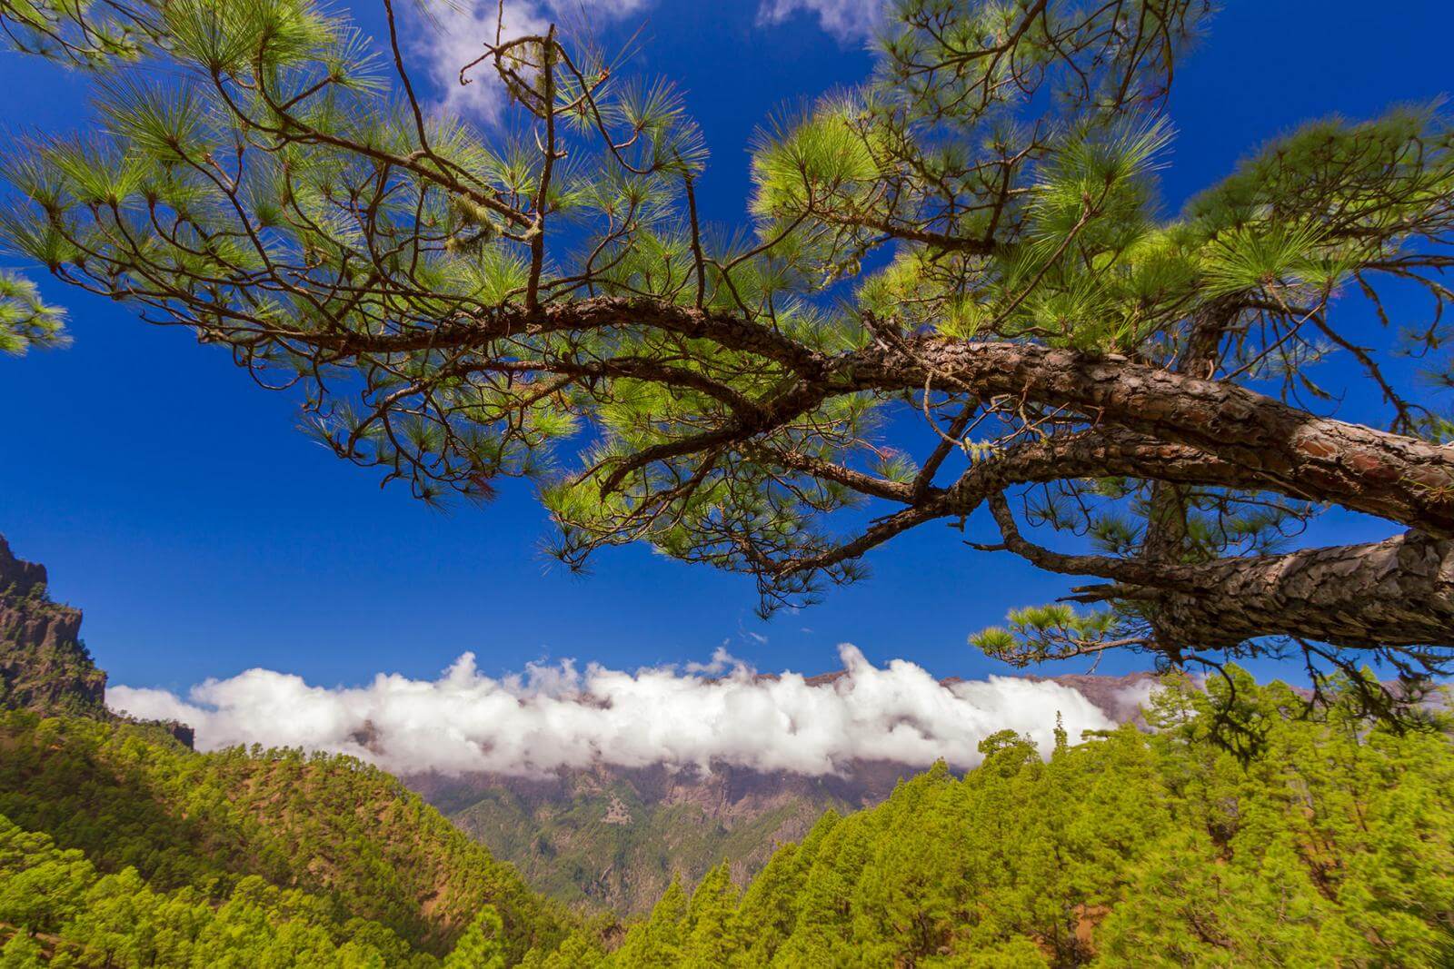
<instances>
[{"instance_id":1,"label":"large overhanging pine with long needles and thick bent limbs","mask_svg":"<svg viewBox=\"0 0 1454 969\"><path fill-rule=\"evenodd\" d=\"M534 479L571 567L650 542L772 610L949 523L1082 583L974 636L1015 662L1445 668L1438 106L1314 121L1163 215L1210 0L896 0L872 77L766 123L750 225L717 230L669 84L489 32L461 80L496 74L515 129L480 129L422 100L381 3L377 44L313 0L0 4L99 112L10 145L9 246L227 347L420 498ZM10 349L47 320L0 293ZM1332 417L1348 391L1378 404ZM1386 538L1300 542L1330 506Z\"/></svg>"}]
</instances>

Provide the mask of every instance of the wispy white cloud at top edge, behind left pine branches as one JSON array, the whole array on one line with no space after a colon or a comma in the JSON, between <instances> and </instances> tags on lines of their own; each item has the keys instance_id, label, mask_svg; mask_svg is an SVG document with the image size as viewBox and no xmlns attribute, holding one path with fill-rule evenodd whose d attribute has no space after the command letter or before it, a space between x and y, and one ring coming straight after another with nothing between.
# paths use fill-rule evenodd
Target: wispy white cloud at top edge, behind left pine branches
<instances>
[{"instance_id":1,"label":"wispy white cloud at top edge, behind left pine branches","mask_svg":"<svg viewBox=\"0 0 1454 969\"><path fill-rule=\"evenodd\" d=\"M459 83L459 68L484 54L494 44L497 28L502 39L544 33L551 22L580 22L587 29L619 20L646 7L648 0L438 0L429 17L419 25L416 46L423 55L429 77L443 92L446 110L487 122L499 121L505 110L505 86L487 61L470 70L468 84ZM503 16L502 16L503 15Z\"/></svg>"}]
</instances>

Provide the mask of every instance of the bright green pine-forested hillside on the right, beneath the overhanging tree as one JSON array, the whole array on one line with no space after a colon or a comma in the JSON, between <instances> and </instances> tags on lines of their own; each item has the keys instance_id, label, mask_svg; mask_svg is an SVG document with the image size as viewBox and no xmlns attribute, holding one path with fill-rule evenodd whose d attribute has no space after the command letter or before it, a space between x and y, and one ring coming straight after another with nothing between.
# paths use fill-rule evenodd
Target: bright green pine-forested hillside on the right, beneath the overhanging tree
<instances>
[{"instance_id":1,"label":"bright green pine-forested hillside on the right, beneath the overhanging tree","mask_svg":"<svg viewBox=\"0 0 1454 969\"><path fill-rule=\"evenodd\" d=\"M963 780L935 769L826 815L742 895L724 867L673 886L579 965L1451 965L1448 734L1368 728L1346 694L1304 718L1294 692L1239 673L1243 761L1210 737L1211 702L1181 684L1156 732L1048 763L993 737Z\"/></svg>"}]
</instances>

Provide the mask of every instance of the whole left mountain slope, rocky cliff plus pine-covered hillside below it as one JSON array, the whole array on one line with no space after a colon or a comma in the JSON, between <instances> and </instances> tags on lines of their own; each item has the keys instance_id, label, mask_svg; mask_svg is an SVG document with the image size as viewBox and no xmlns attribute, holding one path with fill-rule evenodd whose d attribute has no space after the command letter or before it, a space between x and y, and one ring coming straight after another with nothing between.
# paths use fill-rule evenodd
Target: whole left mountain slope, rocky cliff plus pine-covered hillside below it
<instances>
[{"instance_id":1,"label":"whole left mountain slope, rocky cliff plus pine-covered hillside below it","mask_svg":"<svg viewBox=\"0 0 1454 969\"><path fill-rule=\"evenodd\" d=\"M394 965L449 952L487 907L512 963L563 936L558 907L375 767L297 750L199 754L177 725L112 715L79 626L45 594L45 569L0 539L0 940L23 927L16 946L41 933L42 956L70 959L80 938L105 965L113 943L142 946L150 956L121 965L150 965L156 938L93 924L100 896L164 909L164 927L147 924L182 933L195 965L209 965L214 930L254 954L282 946L272 965L348 946L361 960L337 965L381 965L371 952ZM99 959L84 952L79 965Z\"/></svg>"}]
</instances>

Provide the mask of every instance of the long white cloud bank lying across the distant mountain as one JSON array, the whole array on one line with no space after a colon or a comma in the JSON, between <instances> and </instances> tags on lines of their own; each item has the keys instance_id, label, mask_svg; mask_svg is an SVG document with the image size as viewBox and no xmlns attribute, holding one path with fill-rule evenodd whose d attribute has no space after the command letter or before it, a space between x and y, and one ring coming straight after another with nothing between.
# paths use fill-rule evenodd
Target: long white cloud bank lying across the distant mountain
<instances>
[{"instance_id":1,"label":"long white cloud bank lying across the distant mountain","mask_svg":"<svg viewBox=\"0 0 1454 969\"><path fill-rule=\"evenodd\" d=\"M1079 692L1012 677L939 683L894 660L875 667L839 646L843 674L810 683L759 677L718 651L712 662L625 673L569 660L493 678L464 654L438 680L379 674L362 687L310 686L249 670L206 680L186 699L111 687L112 709L196 728L201 750L234 744L353 754L394 773L544 774L605 763L842 773L856 760L973 767L1000 729L1054 744L1059 712L1072 738L1114 723Z\"/></svg>"}]
</instances>

